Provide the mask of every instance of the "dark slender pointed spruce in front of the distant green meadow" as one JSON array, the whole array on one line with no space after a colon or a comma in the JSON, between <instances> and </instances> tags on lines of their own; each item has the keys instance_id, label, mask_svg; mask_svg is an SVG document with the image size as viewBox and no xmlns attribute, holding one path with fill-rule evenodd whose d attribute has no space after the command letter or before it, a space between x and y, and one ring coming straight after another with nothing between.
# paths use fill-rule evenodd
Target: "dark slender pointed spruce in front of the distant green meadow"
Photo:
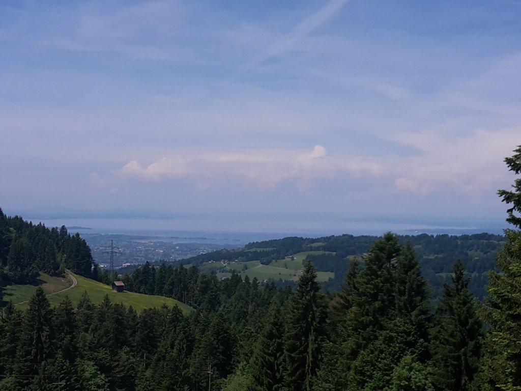
<instances>
[{"instance_id":1,"label":"dark slender pointed spruce in front of the distant green meadow","mask_svg":"<svg viewBox=\"0 0 521 391\"><path fill-rule=\"evenodd\" d=\"M316 278L315 268L308 261L288 308L284 353L286 387L291 391L313 389L326 342L326 303Z\"/></svg>"}]
</instances>

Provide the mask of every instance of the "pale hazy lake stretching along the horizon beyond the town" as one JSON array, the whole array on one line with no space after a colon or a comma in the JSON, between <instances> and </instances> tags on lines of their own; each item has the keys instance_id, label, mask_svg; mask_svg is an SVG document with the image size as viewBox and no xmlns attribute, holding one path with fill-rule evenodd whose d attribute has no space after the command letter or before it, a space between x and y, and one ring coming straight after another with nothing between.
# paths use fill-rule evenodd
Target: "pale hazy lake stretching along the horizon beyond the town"
<instances>
[{"instance_id":1,"label":"pale hazy lake stretching along the horizon beyond the town","mask_svg":"<svg viewBox=\"0 0 521 391\"><path fill-rule=\"evenodd\" d=\"M475 234L481 232L501 234L501 226L439 226L411 223L337 222L316 224L315 228L302 229L298 223L288 222L219 222L198 221L187 218L30 218L34 224L47 227L69 227L70 233L122 234L157 236L179 242L209 242L244 245L252 241L283 238L286 236L321 237L329 235L381 236L393 231L400 235ZM90 228L90 229L87 229ZM234 229L235 228L235 229Z\"/></svg>"}]
</instances>

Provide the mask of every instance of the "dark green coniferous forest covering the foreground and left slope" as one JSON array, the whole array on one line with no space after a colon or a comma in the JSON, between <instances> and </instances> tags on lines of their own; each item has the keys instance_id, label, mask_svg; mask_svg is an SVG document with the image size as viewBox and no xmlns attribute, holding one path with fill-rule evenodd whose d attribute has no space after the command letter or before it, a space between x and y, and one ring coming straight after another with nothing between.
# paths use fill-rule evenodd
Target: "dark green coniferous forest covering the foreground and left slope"
<instances>
[{"instance_id":1,"label":"dark green coniferous forest covering the foreground and left slope","mask_svg":"<svg viewBox=\"0 0 521 391\"><path fill-rule=\"evenodd\" d=\"M145 265L130 290L193 311L138 313L88 294L51 307L39 288L27 310L2 309L0 390L521 390L521 146L505 163L517 175L499 191L512 228L483 301L457 259L434 298L412 243L392 233L349 263L334 294L311 261L294 288ZM0 238L0 286L38 271L100 276L65 227L0 212Z\"/></svg>"}]
</instances>

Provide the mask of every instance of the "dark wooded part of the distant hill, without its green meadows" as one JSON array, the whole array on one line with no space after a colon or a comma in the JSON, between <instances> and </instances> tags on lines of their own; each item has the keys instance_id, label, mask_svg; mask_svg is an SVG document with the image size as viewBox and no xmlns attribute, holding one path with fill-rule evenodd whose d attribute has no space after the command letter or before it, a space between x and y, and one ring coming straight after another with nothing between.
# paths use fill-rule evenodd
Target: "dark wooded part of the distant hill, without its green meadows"
<instances>
[{"instance_id":1,"label":"dark wooded part of the distant hill, without its green meadows","mask_svg":"<svg viewBox=\"0 0 521 391\"><path fill-rule=\"evenodd\" d=\"M488 272L495 267L498 250L505 242L505 237L494 234L474 235L412 235L397 236L400 244L410 242L418 257L422 274L433 287L435 297L441 295L443 284L450 281L452 265L461 260L466 271L473 275L470 290L482 298L487 294ZM201 266L204 262L238 260L247 262L259 260L268 265L295 253L311 251L305 261L311 260L317 271L333 272L322 286L328 291L337 291L343 283L351 259L362 259L374 242L375 236L328 236L320 238L287 237L282 239L253 242L243 249L222 249L197 255L183 262ZM317 251L318 250L318 251ZM322 252L321 254L318 252ZM222 270L226 270L223 267Z\"/></svg>"}]
</instances>

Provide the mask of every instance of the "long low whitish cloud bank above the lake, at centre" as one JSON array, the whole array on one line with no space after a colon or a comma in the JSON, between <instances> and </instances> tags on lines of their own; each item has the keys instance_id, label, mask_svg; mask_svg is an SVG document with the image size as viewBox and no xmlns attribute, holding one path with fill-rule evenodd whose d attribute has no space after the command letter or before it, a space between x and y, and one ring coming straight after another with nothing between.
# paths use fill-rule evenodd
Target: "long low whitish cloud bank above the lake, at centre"
<instances>
[{"instance_id":1,"label":"long low whitish cloud bank above the lake, at centre","mask_svg":"<svg viewBox=\"0 0 521 391\"><path fill-rule=\"evenodd\" d=\"M270 189L283 183L302 185L324 176L378 175L380 170L371 163L362 163L359 156L329 158L322 145L315 145L311 152L263 151L248 153L204 153L191 151L191 157L162 158L143 167L137 160L130 161L120 169L127 178L170 181L188 178L197 189L215 186L222 178L235 183L254 184Z\"/></svg>"}]
</instances>

